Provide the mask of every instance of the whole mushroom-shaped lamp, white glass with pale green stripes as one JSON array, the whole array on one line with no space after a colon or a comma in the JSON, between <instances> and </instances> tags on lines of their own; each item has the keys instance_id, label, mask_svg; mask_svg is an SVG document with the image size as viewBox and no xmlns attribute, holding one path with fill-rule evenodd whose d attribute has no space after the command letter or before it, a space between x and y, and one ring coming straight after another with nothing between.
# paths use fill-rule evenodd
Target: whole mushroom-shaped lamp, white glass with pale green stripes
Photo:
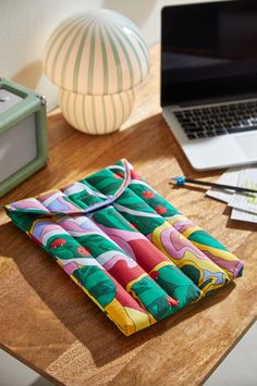
<instances>
[{"instance_id":1,"label":"whole mushroom-shaped lamp, white glass with pale green stripes","mask_svg":"<svg viewBox=\"0 0 257 386\"><path fill-rule=\"evenodd\" d=\"M99 9L58 26L47 43L44 69L60 87L66 121L84 133L107 134L128 117L134 88L149 71L149 51L134 23Z\"/></svg>"}]
</instances>

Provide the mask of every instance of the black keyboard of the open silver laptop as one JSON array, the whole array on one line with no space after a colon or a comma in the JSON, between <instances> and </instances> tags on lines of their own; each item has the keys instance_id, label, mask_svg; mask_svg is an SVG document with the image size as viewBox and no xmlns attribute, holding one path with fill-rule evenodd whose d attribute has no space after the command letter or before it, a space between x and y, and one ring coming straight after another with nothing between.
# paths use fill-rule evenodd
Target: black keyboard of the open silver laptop
<instances>
[{"instance_id":1,"label":"black keyboard of the open silver laptop","mask_svg":"<svg viewBox=\"0 0 257 386\"><path fill-rule=\"evenodd\" d=\"M186 109L174 114L188 139L257 129L257 101Z\"/></svg>"}]
</instances>

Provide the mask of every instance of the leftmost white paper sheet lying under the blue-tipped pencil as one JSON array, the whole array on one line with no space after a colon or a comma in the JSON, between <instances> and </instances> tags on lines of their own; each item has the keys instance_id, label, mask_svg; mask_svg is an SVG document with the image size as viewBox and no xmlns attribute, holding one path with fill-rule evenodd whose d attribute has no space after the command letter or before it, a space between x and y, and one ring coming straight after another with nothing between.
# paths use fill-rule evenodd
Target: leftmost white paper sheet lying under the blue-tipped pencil
<instances>
[{"instance_id":1,"label":"leftmost white paper sheet lying under the blue-tipped pencil","mask_svg":"<svg viewBox=\"0 0 257 386\"><path fill-rule=\"evenodd\" d=\"M217 180L217 183L237 186L240 171L240 167L229 169L225 173L222 174L222 176ZM223 202L230 202L234 196L234 190L220 190L211 188L206 192L206 195Z\"/></svg>"}]
</instances>

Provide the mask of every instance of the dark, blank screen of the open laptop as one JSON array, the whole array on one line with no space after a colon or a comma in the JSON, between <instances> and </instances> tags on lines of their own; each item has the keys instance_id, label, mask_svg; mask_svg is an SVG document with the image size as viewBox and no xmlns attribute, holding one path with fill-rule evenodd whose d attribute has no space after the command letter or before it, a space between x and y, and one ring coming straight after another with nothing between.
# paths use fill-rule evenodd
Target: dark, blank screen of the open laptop
<instances>
[{"instance_id":1,"label":"dark, blank screen of the open laptop","mask_svg":"<svg viewBox=\"0 0 257 386\"><path fill-rule=\"evenodd\" d=\"M257 1L162 9L161 105L257 96Z\"/></svg>"}]
</instances>

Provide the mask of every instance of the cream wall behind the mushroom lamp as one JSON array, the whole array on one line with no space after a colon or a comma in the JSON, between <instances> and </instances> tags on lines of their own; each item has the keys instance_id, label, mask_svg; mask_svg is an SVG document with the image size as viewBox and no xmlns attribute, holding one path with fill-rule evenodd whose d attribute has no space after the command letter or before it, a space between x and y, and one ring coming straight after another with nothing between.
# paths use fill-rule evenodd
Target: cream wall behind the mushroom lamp
<instances>
[{"instance_id":1,"label":"cream wall behind the mushroom lamp","mask_svg":"<svg viewBox=\"0 0 257 386\"><path fill-rule=\"evenodd\" d=\"M188 2L196 1L0 0L0 76L45 95L51 110L58 91L42 74L41 58L48 37L63 18L93 8L112 9L137 24L151 46L160 40L161 8Z\"/></svg>"}]
</instances>

